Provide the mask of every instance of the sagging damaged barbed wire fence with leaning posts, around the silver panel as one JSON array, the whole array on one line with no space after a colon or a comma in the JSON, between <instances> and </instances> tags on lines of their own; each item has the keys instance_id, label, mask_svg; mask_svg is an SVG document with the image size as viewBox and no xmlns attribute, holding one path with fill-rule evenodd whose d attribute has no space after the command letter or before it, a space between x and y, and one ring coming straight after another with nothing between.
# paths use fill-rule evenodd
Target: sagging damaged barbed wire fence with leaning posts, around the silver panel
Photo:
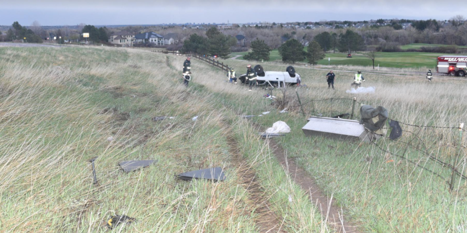
<instances>
[{"instance_id":1,"label":"sagging damaged barbed wire fence with leaning posts, around the silver panel","mask_svg":"<svg viewBox=\"0 0 467 233\"><path fill-rule=\"evenodd\" d=\"M360 120L359 106L361 104L356 100L356 97L323 98L307 100L299 105L289 106L289 108L300 107L307 116ZM390 117L387 120L397 121L401 125L405 139L402 139L402 136L398 139L391 139L387 135L392 128L383 126L381 129L388 131L381 136L384 140L370 142L382 154L399 157L415 167L437 176L446 181L450 191L454 189L458 177L467 182L466 171L461 171L461 168L465 168L467 163L466 146L463 145L466 129L463 123L459 126L417 125ZM455 135L456 133L458 136ZM401 153L394 152L400 148L404 148ZM438 156L439 154L442 156ZM448 162L448 160L450 161ZM432 161L433 163L429 167L428 163L422 163L424 161Z\"/></svg>"}]
</instances>

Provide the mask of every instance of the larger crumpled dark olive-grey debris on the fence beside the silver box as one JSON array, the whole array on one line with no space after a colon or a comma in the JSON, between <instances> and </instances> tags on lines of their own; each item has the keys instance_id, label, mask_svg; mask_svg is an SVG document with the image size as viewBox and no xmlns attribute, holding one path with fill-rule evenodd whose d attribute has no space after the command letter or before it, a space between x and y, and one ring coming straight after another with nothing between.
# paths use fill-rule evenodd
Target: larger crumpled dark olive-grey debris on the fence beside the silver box
<instances>
[{"instance_id":1,"label":"larger crumpled dark olive-grey debris on the fence beside the silver box","mask_svg":"<svg viewBox=\"0 0 467 233\"><path fill-rule=\"evenodd\" d=\"M370 105L362 105L360 108L360 124L363 124L371 132L376 133L376 131L383 128L388 115L388 110L381 106L374 108Z\"/></svg>"}]
</instances>

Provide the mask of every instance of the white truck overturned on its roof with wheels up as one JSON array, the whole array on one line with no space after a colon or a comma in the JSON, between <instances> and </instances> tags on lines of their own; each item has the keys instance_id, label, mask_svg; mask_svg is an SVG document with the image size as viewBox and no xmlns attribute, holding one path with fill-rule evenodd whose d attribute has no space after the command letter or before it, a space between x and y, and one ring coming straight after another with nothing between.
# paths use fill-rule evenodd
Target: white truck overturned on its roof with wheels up
<instances>
[{"instance_id":1,"label":"white truck overturned on its roof with wheels up","mask_svg":"<svg viewBox=\"0 0 467 233\"><path fill-rule=\"evenodd\" d=\"M292 66L288 66L285 72L264 71L261 65L256 65L253 69L257 75L256 81L258 85L282 88L285 85L298 85L301 82L300 75L295 73L295 69ZM243 84L248 84L246 74L241 75L239 79Z\"/></svg>"}]
</instances>

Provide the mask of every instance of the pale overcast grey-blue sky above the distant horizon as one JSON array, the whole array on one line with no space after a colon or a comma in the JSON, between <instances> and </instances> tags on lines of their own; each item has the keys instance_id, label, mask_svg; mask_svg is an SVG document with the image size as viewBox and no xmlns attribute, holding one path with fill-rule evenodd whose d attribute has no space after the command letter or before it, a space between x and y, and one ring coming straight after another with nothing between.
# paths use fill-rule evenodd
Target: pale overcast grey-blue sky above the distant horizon
<instances>
[{"instance_id":1,"label":"pale overcast grey-blue sky above the distant horizon","mask_svg":"<svg viewBox=\"0 0 467 233\"><path fill-rule=\"evenodd\" d=\"M439 0L0 0L0 25L467 18L467 5L461 5Z\"/></svg>"}]
</instances>

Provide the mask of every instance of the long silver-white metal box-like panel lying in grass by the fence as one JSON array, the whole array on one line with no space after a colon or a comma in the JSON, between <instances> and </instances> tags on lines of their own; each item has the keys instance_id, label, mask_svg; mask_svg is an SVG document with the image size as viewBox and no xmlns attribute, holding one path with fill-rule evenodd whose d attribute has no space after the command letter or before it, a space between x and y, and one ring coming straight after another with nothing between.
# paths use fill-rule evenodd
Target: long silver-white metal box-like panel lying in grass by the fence
<instances>
[{"instance_id":1,"label":"long silver-white metal box-like panel lying in grass by the fence","mask_svg":"<svg viewBox=\"0 0 467 233\"><path fill-rule=\"evenodd\" d=\"M371 134L356 120L310 117L301 128L307 136L324 136L334 139L370 141Z\"/></svg>"}]
</instances>

